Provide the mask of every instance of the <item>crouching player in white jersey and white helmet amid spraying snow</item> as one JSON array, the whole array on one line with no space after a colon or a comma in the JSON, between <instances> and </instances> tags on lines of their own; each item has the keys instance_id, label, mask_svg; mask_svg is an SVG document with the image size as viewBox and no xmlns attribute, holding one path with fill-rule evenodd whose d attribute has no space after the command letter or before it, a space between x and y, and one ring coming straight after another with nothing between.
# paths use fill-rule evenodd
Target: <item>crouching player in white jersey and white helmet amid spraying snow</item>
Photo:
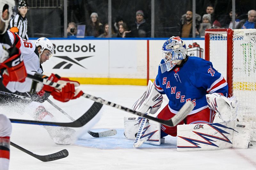
<instances>
[{"instance_id":1,"label":"crouching player in white jersey and white helmet amid spraying snow","mask_svg":"<svg viewBox=\"0 0 256 170\"><path fill-rule=\"evenodd\" d=\"M12 33L11 31L7 32L12 44L20 49L24 58L24 64L27 72L29 74L31 74L32 72L42 74L43 67L41 64L49 60L54 52L54 46L52 42L47 38L41 37L37 39L35 43L33 43L32 41L23 40L18 34ZM29 78L27 78L26 81L22 83L22 85L24 85L24 89L27 88L27 86L30 87L30 84L31 79ZM38 91L37 89L41 88L41 84L33 82L32 87L27 88L25 91L28 91L30 89L32 89L32 91ZM11 93L10 91L8 91L8 89L4 87L3 84L0 84L0 91ZM33 100L28 101L11 96L0 95L0 98L4 99L4 102L2 101L1 104L7 107L12 107L13 109L17 109L17 112L27 112L37 121L57 122L55 117L40 104L50 96L49 93L40 91L37 93L15 92L14 94L26 96L32 98ZM30 110L34 110L34 112L31 113ZM50 137L56 144L70 144L73 140L75 140L72 138L72 135L74 135L75 133L74 129L67 127L51 126L44 126L44 128L48 131Z\"/></svg>"}]
</instances>

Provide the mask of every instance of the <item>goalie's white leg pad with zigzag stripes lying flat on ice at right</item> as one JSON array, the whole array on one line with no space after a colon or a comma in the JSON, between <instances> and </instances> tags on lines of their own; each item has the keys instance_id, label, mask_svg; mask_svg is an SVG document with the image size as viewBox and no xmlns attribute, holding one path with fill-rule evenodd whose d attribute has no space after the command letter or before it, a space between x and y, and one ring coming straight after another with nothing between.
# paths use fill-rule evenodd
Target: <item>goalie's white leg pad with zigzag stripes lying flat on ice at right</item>
<instances>
[{"instance_id":1,"label":"goalie's white leg pad with zigzag stripes lying flat on ice at right","mask_svg":"<svg viewBox=\"0 0 256 170\"><path fill-rule=\"evenodd\" d=\"M242 122L178 125L177 136L177 151L248 148L250 126Z\"/></svg>"}]
</instances>

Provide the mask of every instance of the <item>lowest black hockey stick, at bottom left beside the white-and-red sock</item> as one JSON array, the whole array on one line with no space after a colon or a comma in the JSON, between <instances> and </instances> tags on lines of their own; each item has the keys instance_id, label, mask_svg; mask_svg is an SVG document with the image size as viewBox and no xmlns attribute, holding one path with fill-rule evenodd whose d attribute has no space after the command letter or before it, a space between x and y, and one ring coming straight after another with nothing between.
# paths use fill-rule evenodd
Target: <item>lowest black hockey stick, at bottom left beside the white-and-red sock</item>
<instances>
[{"instance_id":1,"label":"lowest black hockey stick, at bottom left beside the white-and-red sock","mask_svg":"<svg viewBox=\"0 0 256 170\"><path fill-rule=\"evenodd\" d=\"M59 152L56 153L52 153L49 155L37 155L33 152L28 151L27 149L22 148L21 146L14 144L11 142L11 145L17 149L19 149L20 151L23 151L31 156L33 156L36 159L39 159L43 162L49 162L49 161L53 161L53 160L58 160L58 159L62 159L62 158L66 158L68 156L68 151L66 149L63 149Z\"/></svg>"}]
</instances>

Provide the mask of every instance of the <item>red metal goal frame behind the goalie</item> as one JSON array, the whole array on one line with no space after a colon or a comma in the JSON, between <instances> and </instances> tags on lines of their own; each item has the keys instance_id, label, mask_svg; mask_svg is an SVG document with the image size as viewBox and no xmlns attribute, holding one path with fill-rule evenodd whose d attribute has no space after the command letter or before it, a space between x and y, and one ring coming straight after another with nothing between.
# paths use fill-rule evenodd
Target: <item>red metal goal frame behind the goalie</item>
<instances>
[{"instance_id":1,"label":"red metal goal frame behind the goalie","mask_svg":"<svg viewBox=\"0 0 256 170\"><path fill-rule=\"evenodd\" d=\"M210 61L210 34L227 34L227 83L228 97L233 96L233 36L234 31L230 28L225 29L206 29L204 34L204 56L205 60ZM216 49L218 50L218 49ZM214 67L214 66L213 66Z\"/></svg>"}]
</instances>

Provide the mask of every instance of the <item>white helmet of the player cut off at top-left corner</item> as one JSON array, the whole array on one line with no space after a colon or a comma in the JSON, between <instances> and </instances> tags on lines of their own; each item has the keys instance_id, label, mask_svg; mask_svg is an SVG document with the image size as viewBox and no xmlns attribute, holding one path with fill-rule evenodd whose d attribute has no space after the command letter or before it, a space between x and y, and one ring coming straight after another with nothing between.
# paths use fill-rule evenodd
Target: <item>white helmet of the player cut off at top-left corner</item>
<instances>
[{"instance_id":1,"label":"white helmet of the player cut off at top-left corner","mask_svg":"<svg viewBox=\"0 0 256 170\"><path fill-rule=\"evenodd\" d=\"M4 5L8 5L8 8L5 8L5 9L8 9L8 12L9 12L9 17L6 20L4 20L4 18L2 17L3 10L5 10ZM11 16L12 16L12 11L13 11L14 6L15 6L15 1L14 0L0 0L0 18L5 23L4 30L1 31L0 34L4 34L5 31L7 30L8 25L9 25L9 21L10 21Z\"/></svg>"}]
</instances>

